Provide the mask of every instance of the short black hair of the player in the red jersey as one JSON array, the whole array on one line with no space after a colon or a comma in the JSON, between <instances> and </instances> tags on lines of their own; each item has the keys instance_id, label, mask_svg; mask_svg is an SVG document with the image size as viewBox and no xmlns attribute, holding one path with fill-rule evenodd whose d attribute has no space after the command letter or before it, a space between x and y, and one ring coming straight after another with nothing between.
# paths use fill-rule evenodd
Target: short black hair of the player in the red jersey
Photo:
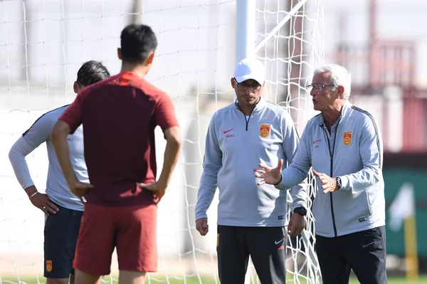
<instances>
[{"instance_id":1,"label":"short black hair of the player in the red jersey","mask_svg":"<svg viewBox=\"0 0 427 284\"><path fill-rule=\"evenodd\" d=\"M157 38L152 28L142 24L131 23L123 28L120 35L122 61L143 63L149 53L157 48Z\"/></svg>"}]
</instances>

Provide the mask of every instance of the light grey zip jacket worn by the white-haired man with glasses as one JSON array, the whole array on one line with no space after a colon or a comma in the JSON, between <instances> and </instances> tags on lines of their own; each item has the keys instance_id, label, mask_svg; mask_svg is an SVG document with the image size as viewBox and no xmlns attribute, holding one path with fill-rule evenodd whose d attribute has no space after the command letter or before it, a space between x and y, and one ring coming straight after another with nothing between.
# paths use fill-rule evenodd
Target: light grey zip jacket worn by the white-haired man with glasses
<instances>
[{"instance_id":1,"label":"light grey zip jacket worn by the white-haired man with glasses","mask_svg":"<svg viewBox=\"0 0 427 284\"><path fill-rule=\"evenodd\" d=\"M292 164L283 170L276 188L301 182L310 167L340 177L341 189L327 194L316 179L316 234L334 237L364 231L385 225L382 163L381 134L374 117L346 101L331 132L322 114L307 123Z\"/></svg>"}]
</instances>

